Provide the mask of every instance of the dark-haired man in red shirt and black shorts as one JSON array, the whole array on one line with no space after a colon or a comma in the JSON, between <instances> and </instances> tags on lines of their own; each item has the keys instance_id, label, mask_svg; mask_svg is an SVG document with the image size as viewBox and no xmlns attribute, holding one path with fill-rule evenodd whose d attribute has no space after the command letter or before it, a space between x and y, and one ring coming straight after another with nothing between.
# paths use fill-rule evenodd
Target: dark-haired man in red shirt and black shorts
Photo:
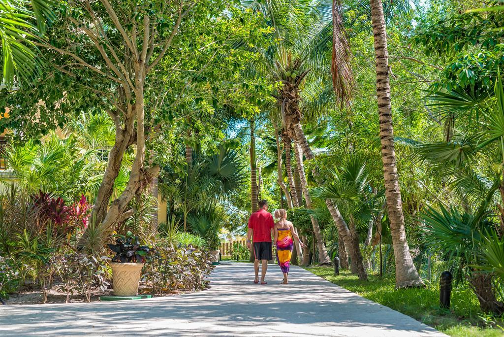
<instances>
[{"instance_id":1,"label":"dark-haired man in red shirt and black shorts","mask_svg":"<svg viewBox=\"0 0 504 337\"><path fill-rule=\"evenodd\" d=\"M268 260L273 260L272 238L273 238L273 216L268 213L268 203L261 200L258 203L259 210L252 213L248 219L247 248L250 250L250 237L254 234L254 270L256 278L254 283L259 283L259 260L262 262L261 284L267 285L264 280L266 270L268 270Z\"/></svg>"}]
</instances>

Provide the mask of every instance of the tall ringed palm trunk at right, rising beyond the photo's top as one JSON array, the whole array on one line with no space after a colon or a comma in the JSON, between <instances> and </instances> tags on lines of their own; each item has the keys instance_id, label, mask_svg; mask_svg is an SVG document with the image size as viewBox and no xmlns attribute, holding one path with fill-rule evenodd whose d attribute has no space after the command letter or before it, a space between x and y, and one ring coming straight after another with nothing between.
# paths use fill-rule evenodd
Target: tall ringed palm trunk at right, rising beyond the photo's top
<instances>
[{"instance_id":1,"label":"tall ringed palm trunk at right, rising beyond the photo's top","mask_svg":"<svg viewBox=\"0 0 504 337\"><path fill-rule=\"evenodd\" d=\"M420 287L424 286L424 284L413 264L404 229L404 214L394 149L389 55L387 50L387 32L383 5L381 0L370 0L370 4L374 52L376 57L376 95L378 98L380 117L380 139L382 142L385 195L396 262L396 288Z\"/></svg>"}]
</instances>

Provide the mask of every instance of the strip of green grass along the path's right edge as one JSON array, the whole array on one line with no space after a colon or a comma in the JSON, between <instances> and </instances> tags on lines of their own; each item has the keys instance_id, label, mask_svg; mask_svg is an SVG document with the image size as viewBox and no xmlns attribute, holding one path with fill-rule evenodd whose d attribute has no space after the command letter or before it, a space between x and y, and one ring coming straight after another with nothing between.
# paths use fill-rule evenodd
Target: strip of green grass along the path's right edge
<instances>
[{"instance_id":1,"label":"strip of green grass along the path's right edge","mask_svg":"<svg viewBox=\"0 0 504 337\"><path fill-rule=\"evenodd\" d=\"M497 337L504 335L504 322L483 314L474 293L467 286L455 286L450 310L439 308L437 284L422 289L396 291L393 278L369 275L369 281L343 271L334 276L333 267L310 267L307 270L351 292L411 316L439 331L456 337ZM454 284L455 285L455 284Z\"/></svg>"}]
</instances>

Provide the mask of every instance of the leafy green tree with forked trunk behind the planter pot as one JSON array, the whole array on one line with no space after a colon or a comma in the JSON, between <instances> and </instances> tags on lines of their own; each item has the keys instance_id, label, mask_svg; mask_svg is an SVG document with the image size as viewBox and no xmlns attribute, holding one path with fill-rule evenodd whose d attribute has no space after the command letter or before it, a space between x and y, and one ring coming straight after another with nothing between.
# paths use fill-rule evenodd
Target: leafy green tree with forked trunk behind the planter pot
<instances>
[{"instance_id":1,"label":"leafy green tree with forked trunk behind the planter pot","mask_svg":"<svg viewBox=\"0 0 504 337\"><path fill-rule=\"evenodd\" d=\"M213 93L253 57L236 40L254 45L263 39L262 30L254 15L226 2L69 1L54 12L50 30L34 42L52 66L38 80L46 86L26 100L21 92L0 95L7 96L2 104L12 107L2 128L35 138L63 127L76 110L102 107L114 123L115 139L92 218L111 231L132 198L157 176L159 166L147 149L162 137L178 107L186 111L183 105L196 98L194 90L204 90L198 101L207 110L213 111L207 99L215 105L239 103L216 101ZM43 107L37 105L41 97ZM133 147L128 184L110 203L124 154Z\"/></svg>"}]
</instances>

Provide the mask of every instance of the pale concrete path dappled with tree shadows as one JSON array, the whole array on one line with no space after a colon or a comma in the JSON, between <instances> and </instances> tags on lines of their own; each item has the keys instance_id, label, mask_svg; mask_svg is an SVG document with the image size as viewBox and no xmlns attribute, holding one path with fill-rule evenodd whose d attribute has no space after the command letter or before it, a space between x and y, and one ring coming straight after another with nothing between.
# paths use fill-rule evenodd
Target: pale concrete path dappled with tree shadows
<instances>
[{"instance_id":1,"label":"pale concrete path dappled with tree shadows","mask_svg":"<svg viewBox=\"0 0 504 337\"><path fill-rule=\"evenodd\" d=\"M293 267L254 285L253 265L217 266L203 292L149 300L0 306L1 336L446 336Z\"/></svg>"}]
</instances>

